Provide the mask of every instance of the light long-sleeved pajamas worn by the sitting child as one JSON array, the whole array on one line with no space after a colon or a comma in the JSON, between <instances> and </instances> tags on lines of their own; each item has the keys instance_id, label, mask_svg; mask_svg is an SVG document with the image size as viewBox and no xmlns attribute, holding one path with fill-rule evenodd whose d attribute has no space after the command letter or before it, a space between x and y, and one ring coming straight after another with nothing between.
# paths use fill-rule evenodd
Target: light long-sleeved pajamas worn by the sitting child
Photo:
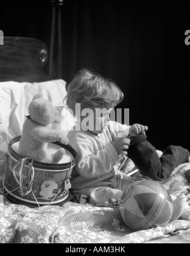
<instances>
[{"instance_id":1,"label":"light long-sleeved pajamas worn by the sitting child","mask_svg":"<svg viewBox=\"0 0 190 256\"><path fill-rule=\"evenodd\" d=\"M79 130L79 129L77 129ZM108 122L101 134L70 131L69 144L77 151L71 184L73 193L89 196L91 203L120 199L132 178L117 170L120 159L112 142L129 135L129 126Z\"/></svg>"}]
</instances>

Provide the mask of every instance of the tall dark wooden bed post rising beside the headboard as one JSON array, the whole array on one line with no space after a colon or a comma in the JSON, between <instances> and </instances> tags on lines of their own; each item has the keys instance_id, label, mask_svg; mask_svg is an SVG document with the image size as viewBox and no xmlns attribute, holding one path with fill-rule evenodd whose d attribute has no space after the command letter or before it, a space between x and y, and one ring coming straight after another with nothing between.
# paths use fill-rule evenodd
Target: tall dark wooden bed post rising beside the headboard
<instances>
[{"instance_id":1,"label":"tall dark wooden bed post rising beside the headboard","mask_svg":"<svg viewBox=\"0 0 190 256\"><path fill-rule=\"evenodd\" d=\"M51 42L49 51L49 76L62 79L63 49L62 49L62 6L63 0L51 0L53 16L51 24Z\"/></svg>"}]
</instances>

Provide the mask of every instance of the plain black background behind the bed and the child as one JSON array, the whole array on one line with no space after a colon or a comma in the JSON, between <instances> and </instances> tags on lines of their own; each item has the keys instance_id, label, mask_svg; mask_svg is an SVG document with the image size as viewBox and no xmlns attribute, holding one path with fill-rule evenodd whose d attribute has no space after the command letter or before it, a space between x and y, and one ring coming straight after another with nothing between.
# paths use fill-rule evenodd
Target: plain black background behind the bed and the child
<instances>
[{"instance_id":1,"label":"plain black background behind the bed and the child","mask_svg":"<svg viewBox=\"0 0 190 256\"><path fill-rule=\"evenodd\" d=\"M94 68L124 91L130 124L148 125L149 141L190 150L189 1L65 0L63 79ZM4 36L41 39L49 48L51 0L1 1ZM46 67L46 72L48 68Z\"/></svg>"}]
</instances>

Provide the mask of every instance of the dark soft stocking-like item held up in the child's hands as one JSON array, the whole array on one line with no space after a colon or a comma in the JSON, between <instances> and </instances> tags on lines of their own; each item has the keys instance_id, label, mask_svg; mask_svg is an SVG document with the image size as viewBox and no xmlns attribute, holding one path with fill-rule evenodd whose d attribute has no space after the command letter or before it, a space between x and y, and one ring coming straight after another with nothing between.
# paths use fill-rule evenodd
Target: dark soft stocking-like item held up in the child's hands
<instances>
[{"instance_id":1,"label":"dark soft stocking-like item held up in the child's hands","mask_svg":"<svg viewBox=\"0 0 190 256\"><path fill-rule=\"evenodd\" d=\"M170 145L158 157L156 148L146 138L145 134L129 136L130 146L127 150L127 156L143 176L162 181L172 174L175 167L189 162L189 151L186 148Z\"/></svg>"}]
</instances>

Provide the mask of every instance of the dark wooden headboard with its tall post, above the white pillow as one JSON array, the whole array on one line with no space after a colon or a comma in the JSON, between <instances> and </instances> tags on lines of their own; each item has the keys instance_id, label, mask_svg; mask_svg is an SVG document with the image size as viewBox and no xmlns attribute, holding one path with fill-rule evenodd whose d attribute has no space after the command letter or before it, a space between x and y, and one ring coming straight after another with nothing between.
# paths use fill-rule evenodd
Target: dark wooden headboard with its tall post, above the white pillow
<instances>
[{"instance_id":1,"label":"dark wooden headboard with its tall post, above the white pillow","mask_svg":"<svg viewBox=\"0 0 190 256\"><path fill-rule=\"evenodd\" d=\"M50 0L49 0L50 1ZM42 82L62 77L62 27L63 0L51 0L53 6L49 54L44 42L29 37L4 37L0 47L0 81ZM49 74L44 65L49 60Z\"/></svg>"}]
</instances>

